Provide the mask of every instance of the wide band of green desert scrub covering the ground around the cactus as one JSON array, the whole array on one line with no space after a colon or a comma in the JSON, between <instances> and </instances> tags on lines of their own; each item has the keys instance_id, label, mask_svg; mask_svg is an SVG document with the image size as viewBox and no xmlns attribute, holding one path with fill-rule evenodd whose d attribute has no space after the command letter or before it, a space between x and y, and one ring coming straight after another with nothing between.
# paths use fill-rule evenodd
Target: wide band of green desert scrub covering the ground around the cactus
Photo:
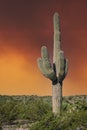
<instances>
[{"instance_id":1,"label":"wide band of green desert scrub covering the ground around the cactus","mask_svg":"<svg viewBox=\"0 0 87 130\"><path fill-rule=\"evenodd\" d=\"M27 124L31 130L87 130L87 96L64 97L62 114L52 113L50 96L0 96L0 127Z\"/></svg>"}]
</instances>

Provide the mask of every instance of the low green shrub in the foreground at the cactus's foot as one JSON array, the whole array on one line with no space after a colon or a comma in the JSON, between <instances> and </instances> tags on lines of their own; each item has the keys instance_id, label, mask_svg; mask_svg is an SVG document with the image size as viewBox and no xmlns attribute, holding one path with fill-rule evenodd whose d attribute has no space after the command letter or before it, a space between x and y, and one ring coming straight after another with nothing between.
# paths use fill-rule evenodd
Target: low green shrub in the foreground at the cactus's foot
<instances>
[{"instance_id":1,"label":"low green shrub in the foreground at the cactus's foot","mask_svg":"<svg viewBox=\"0 0 87 130\"><path fill-rule=\"evenodd\" d=\"M49 113L35 123L31 130L76 130L77 127L87 128L87 111L63 113L61 116Z\"/></svg>"}]
</instances>

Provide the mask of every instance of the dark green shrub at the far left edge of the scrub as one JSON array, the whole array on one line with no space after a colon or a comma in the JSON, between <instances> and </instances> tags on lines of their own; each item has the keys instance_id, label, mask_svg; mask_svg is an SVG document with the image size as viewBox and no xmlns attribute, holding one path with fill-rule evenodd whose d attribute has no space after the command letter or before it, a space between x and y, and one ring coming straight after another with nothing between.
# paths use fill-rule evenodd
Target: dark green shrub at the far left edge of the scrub
<instances>
[{"instance_id":1,"label":"dark green shrub at the far left edge of the scrub","mask_svg":"<svg viewBox=\"0 0 87 130\"><path fill-rule=\"evenodd\" d=\"M15 100L7 101L3 103L0 107L0 121L11 123L13 120L17 119L18 115L18 105Z\"/></svg>"}]
</instances>

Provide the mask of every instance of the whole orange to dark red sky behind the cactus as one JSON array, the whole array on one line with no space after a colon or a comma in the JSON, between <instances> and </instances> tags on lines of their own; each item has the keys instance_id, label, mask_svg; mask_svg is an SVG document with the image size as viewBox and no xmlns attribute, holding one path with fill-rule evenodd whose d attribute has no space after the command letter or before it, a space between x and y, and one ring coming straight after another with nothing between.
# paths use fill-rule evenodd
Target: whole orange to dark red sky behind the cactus
<instances>
[{"instance_id":1,"label":"whole orange to dark red sky behind the cactus","mask_svg":"<svg viewBox=\"0 0 87 130\"><path fill-rule=\"evenodd\" d=\"M69 60L63 95L87 94L87 0L0 2L0 94L52 94L51 81L40 73L37 58L46 45L52 61L55 11Z\"/></svg>"}]
</instances>

